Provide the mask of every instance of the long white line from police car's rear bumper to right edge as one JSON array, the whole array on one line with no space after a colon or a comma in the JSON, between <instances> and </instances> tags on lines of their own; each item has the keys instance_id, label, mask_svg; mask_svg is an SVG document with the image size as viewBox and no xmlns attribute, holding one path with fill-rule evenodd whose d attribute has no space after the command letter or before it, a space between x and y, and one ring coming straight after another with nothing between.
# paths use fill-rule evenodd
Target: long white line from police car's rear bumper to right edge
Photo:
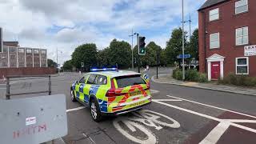
<instances>
[{"instance_id":1,"label":"long white line from police car's rear bumper to right edge","mask_svg":"<svg viewBox=\"0 0 256 144\"><path fill-rule=\"evenodd\" d=\"M174 108L174 109L186 111L186 112L188 112L188 113L190 113L190 114L195 114L195 115L201 116L201 117L203 117L203 118L209 118L209 119L214 120L214 121L217 121L217 122L227 122L225 119L215 118L215 117L212 117L212 116L207 115L207 114L201 114L201 113L195 112L195 111L193 111L193 110L187 110L187 109L184 109L184 108L182 108L182 107L170 105L170 104L165 103L165 102L154 101L154 99L153 99L152 101L153 101L153 102L157 102L157 103L159 103L159 104L162 104L162 105L164 105L164 106L172 107L172 108ZM256 120L255 120L255 123L256 123ZM256 133L256 130L254 130L254 129L250 128L250 127L238 125L238 124L232 123L232 122L229 122L229 124L230 124L231 126L235 126L235 127L240 128L240 129L248 130L248 131L250 131L250 132Z\"/></svg>"}]
</instances>

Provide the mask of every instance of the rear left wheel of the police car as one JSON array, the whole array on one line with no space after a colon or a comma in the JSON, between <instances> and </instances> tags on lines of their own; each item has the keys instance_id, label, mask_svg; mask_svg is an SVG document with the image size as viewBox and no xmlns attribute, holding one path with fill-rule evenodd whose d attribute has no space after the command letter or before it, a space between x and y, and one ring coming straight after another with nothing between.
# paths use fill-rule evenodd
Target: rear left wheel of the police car
<instances>
[{"instance_id":1,"label":"rear left wheel of the police car","mask_svg":"<svg viewBox=\"0 0 256 144\"><path fill-rule=\"evenodd\" d=\"M102 120L102 114L99 110L98 102L96 102L94 99L92 99L90 102L90 114L95 122L99 122Z\"/></svg>"}]
</instances>

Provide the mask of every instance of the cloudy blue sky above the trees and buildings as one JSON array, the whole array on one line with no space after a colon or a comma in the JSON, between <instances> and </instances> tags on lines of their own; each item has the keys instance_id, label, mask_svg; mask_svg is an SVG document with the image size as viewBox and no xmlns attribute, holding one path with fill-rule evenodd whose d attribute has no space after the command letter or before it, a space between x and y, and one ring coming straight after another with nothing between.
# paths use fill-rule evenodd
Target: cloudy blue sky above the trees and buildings
<instances>
[{"instance_id":1,"label":"cloudy blue sky above the trees and buildings","mask_svg":"<svg viewBox=\"0 0 256 144\"><path fill-rule=\"evenodd\" d=\"M185 20L192 30L206 0L184 0ZM182 0L0 0L4 41L48 50L58 63L71 58L77 46L95 43L98 50L116 38L130 42L131 31L162 48L171 31L182 26ZM185 30L189 31L189 23Z\"/></svg>"}]
</instances>

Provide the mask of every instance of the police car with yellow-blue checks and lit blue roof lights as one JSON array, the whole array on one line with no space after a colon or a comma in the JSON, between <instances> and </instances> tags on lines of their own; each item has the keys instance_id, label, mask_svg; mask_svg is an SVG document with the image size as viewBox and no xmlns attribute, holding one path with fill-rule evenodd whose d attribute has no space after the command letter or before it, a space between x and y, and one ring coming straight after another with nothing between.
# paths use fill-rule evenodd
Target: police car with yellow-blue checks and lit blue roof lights
<instances>
[{"instance_id":1,"label":"police car with yellow-blue checks and lit blue roof lights","mask_svg":"<svg viewBox=\"0 0 256 144\"><path fill-rule=\"evenodd\" d=\"M150 84L133 71L93 69L70 87L73 102L90 106L94 121L105 115L125 114L150 104Z\"/></svg>"}]
</instances>

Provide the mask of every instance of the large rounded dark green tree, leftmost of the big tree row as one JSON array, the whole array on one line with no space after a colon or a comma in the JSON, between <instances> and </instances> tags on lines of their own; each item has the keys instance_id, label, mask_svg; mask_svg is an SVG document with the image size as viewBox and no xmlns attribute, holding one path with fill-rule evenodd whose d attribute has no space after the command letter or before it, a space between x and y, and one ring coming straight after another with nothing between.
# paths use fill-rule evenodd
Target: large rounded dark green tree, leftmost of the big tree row
<instances>
[{"instance_id":1,"label":"large rounded dark green tree, leftmost of the big tree row","mask_svg":"<svg viewBox=\"0 0 256 144\"><path fill-rule=\"evenodd\" d=\"M72 56L72 64L76 68L81 68L81 63L84 63L86 70L90 70L91 66L97 65L97 47L94 43L86 43L78 46Z\"/></svg>"}]
</instances>

